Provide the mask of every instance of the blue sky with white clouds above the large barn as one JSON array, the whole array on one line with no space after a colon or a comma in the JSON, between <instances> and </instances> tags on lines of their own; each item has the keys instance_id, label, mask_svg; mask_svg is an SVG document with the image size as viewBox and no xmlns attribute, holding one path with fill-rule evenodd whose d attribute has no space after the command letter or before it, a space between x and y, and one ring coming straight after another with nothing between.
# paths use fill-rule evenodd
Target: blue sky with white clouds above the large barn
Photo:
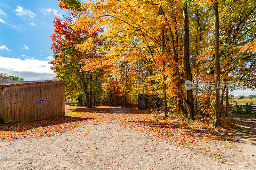
<instances>
[{"instance_id":1,"label":"blue sky with white clouds above the large barn","mask_svg":"<svg viewBox=\"0 0 256 170\"><path fill-rule=\"evenodd\" d=\"M0 72L25 80L51 80L53 20L66 12L57 0L1 0Z\"/></svg>"}]
</instances>

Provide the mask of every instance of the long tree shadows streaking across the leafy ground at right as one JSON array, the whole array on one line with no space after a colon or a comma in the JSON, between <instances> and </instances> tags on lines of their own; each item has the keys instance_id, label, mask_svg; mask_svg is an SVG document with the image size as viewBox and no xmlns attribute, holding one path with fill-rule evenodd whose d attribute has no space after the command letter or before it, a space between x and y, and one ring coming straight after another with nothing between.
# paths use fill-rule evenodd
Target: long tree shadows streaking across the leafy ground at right
<instances>
[{"instance_id":1,"label":"long tree shadows streaking across the leafy ground at right","mask_svg":"<svg viewBox=\"0 0 256 170\"><path fill-rule=\"evenodd\" d=\"M140 120L133 120L128 121L132 124L143 124L146 127L152 128L159 128L159 131L165 131L166 134L175 135L176 132L179 132L180 129L184 130L183 135L188 135L191 137L198 137L198 136L208 136L214 137L214 140L228 140L232 142L239 142L244 143L245 140L247 142L252 143L252 145L256 145L256 124L255 121L251 121L249 119L239 118L236 119L237 121L242 122L243 126L239 126L239 131L229 130L227 133L224 129L209 129L208 127L198 127L198 126L191 126L191 122L179 122L179 123L172 123L172 122L160 122L160 121L140 121Z\"/></svg>"}]
</instances>

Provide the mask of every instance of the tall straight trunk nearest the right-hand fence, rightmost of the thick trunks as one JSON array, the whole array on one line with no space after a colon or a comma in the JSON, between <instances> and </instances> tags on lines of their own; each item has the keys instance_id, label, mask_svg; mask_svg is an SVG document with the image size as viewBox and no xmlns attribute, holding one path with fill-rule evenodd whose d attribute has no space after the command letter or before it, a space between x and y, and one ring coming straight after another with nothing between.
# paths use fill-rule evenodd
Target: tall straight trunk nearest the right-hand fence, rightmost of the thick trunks
<instances>
[{"instance_id":1,"label":"tall straight trunk nearest the right-hand fence, rightmost of the thick trunks","mask_svg":"<svg viewBox=\"0 0 256 170\"><path fill-rule=\"evenodd\" d=\"M215 119L214 126L220 127L220 25L219 25L219 0L214 0L214 22L215 22Z\"/></svg>"}]
</instances>

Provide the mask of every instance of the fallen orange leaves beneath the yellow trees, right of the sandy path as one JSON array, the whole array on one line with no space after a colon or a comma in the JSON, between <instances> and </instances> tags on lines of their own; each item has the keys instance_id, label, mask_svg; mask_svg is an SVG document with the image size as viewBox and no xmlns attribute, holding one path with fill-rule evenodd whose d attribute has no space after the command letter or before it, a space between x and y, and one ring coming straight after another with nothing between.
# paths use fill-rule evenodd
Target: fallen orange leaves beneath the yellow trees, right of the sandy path
<instances>
[{"instance_id":1,"label":"fallen orange leaves beneath the yellow trees, right of the sandy path","mask_svg":"<svg viewBox=\"0 0 256 170\"><path fill-rule=\"evenodd\" d=\"M129 114L104 114L98 118L105 121L119 122L130 128L139 127L140 130L164 141L176 141L180 144L219 140L221 132L237 128L237 122L231 118L223 119L225 129L216 129L212 127L213 117L206 117L202 122L180 120L178 117L166 120L158 115L149 114L145 110L138 110L135 107L128 108L131 110Z\"/></svg>"}]
</instances>

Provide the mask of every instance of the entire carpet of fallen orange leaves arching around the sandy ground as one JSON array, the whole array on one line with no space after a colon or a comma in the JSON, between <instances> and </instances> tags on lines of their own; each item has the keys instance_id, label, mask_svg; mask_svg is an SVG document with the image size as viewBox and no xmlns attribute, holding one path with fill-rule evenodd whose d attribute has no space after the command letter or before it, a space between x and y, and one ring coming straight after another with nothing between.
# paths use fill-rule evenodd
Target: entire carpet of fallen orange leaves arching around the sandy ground
<instances>
[{"instance_id":1,"label":"entire carpet of fallen orange leaves arching around the sandy ground","mask_svg":"<svg viewBox=\"0 0 256 170\"><path fill-rule=\"evenodd\" d=\"M238 128L237 121L226 117L222 118L224 129L216 129L212 127L213 117L200 118L202 121L180 120L178 117L171 117L171 119L166 120L160 115L152 115L145 110L138 110L136 107L127 107L131 110L131 113L128 114L107 114L110 108L66 106L66 116L63 117L0 126L0 138L13 139L54 135L83 124L102 121L121 123L129 128L139 128L141 131L164 141L188 144L195 141L219 140L222 132L237 130Z\"/></svg>"}]
</instances>

